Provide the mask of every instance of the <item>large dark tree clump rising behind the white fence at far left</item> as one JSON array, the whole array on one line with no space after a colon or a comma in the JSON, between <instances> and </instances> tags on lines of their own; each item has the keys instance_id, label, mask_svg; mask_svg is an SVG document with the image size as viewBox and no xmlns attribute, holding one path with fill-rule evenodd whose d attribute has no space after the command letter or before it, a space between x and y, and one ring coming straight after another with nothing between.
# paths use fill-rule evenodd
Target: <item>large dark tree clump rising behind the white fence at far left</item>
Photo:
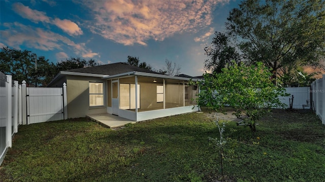
<instances>
[{"instance_id":1,"label":"large dark tree clump rising behind the white fence at far left","mask_svg":"<svg viewBox=\"0 0 325 182\"><path fill-rule=\"evenodd\" d=\"M55 66L42 56L30 51L1 48L0 71L13 76L14 80L36 86L46 86L55 76Z\"/></svg>"}]
</instances>

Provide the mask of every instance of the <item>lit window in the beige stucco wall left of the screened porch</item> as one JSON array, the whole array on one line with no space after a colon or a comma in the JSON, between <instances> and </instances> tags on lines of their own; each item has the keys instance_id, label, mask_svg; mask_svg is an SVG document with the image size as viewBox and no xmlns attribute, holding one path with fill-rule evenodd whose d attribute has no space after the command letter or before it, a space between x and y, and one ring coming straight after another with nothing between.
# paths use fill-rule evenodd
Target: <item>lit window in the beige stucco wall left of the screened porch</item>
<instances>
[{"instance_id":1,"label":"lit window in the beige stucco wall left of the screened porch","mask_svg":"<svg viewBox=\"0 0 325 182\"><path fill-rule=\"evenodd\" d=\"M89 106L104 106L104 83L89 82Z\"/></svg>"}]
</instances>

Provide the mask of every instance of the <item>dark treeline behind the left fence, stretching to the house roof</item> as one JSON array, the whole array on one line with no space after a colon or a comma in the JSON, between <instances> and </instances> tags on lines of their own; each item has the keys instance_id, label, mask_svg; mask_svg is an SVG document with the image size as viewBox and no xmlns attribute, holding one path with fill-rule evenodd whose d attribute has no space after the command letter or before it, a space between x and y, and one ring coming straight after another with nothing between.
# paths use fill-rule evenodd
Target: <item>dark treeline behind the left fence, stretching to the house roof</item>
<instances>
[{"instance_id":1,"label":"dark treeline behind the left fence, stretching to the house roof","mask_svg":"<svg viewBox=\"0 0 325 182\"><path fill-rule=\"evenodd\" d=\"M81 58L70 58L53 64L30 51L8 47L1 48L0 52L0 71L12 75L13 80L18 80L19 84L25 80L28 85L46 87L59 71L98 65L100 64L95 60L86 61Z\"/></svg>"}]
</instances>

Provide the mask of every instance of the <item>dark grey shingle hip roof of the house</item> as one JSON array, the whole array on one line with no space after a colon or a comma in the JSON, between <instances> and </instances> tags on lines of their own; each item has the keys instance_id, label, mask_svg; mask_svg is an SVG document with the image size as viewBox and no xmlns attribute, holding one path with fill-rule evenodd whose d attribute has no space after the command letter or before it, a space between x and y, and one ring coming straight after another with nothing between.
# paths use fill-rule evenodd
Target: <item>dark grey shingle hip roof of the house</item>
<instances>
[{"instance_id":1,"label":"dark grey shingle hip roof of the house","mask_svg":"<svg viewBox=\"0 0 325 182\"><path fill-rule=\"evenodd\" d=\"M71 69L67 70L69 72L76 72L76 73L92 73L92 74L102 74L102 75L117 75L121 73L127 73L132 71L144 72L144 73L155 73L159 74L154 71L150 71L144 68L139 68L136 66L128 65L126 63L112 63L100 66L92 66L87 68L78 68L78 69Z\"/></svg>"}]
</instances>

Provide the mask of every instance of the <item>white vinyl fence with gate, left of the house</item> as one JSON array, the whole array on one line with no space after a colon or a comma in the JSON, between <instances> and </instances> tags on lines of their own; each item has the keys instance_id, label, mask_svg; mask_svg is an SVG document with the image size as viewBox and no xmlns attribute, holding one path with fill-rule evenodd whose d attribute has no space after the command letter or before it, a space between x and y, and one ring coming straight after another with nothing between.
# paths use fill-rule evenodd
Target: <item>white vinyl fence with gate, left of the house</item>
<instances>
[{"instance_id":1,"label":"white vinyl fence with gate, left of the house","mask_svg":"<svg viewBox=\"0 0 325 182\"><path fill-rule=\"evenodd\" d=\"M63 88L18 85L0 72L0 165L12 146L18 125L68 119L67 85Z\"/></svg>"}]
</instances>

